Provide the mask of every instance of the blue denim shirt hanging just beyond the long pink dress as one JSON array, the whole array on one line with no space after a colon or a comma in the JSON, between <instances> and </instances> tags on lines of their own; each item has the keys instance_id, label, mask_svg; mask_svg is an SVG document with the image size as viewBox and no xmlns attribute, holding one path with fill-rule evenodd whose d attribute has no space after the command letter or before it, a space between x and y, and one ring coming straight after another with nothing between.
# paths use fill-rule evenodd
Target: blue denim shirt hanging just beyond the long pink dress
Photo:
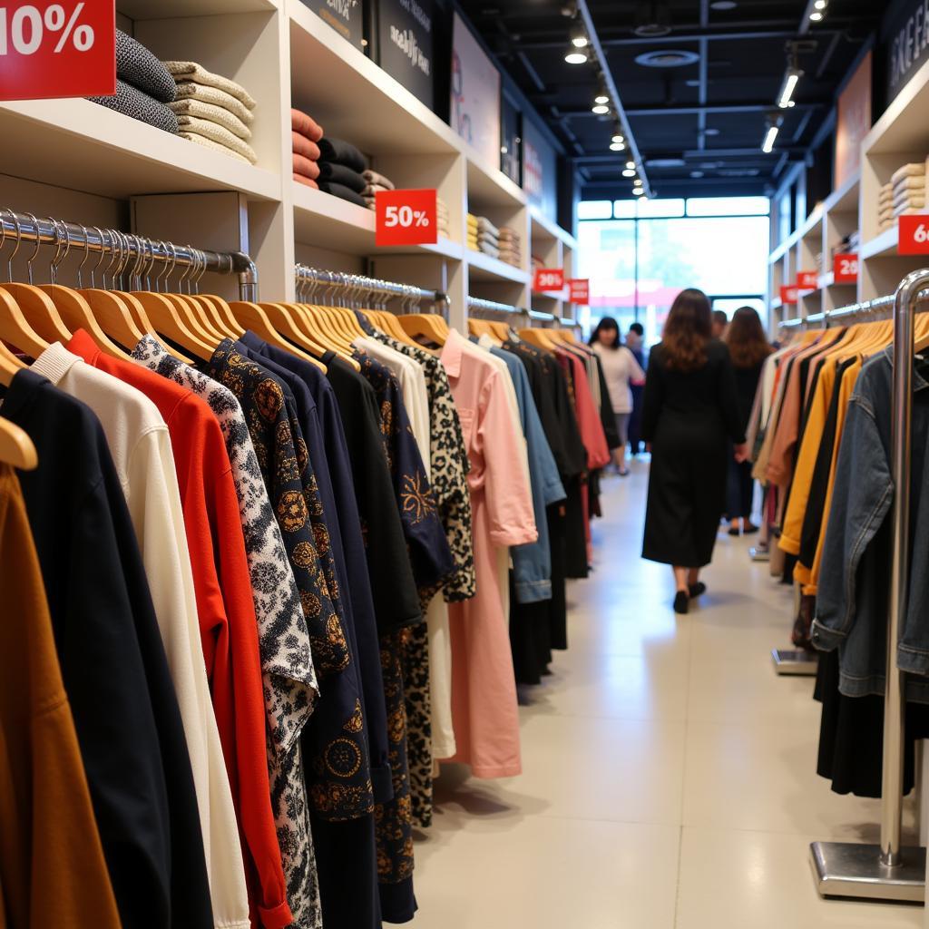
<instances>
[{"instance_id":1,"label":"blue denim shirt hanging just beyond the long pink dress","mask_svg":"<svg viewBox=\"0 0 929 929\"><path fill-rule=\"evenodd\" d=\"M535 525L539 530L536 542L515 545L510 549L513 558L513 574L516 582L517 600L520 603L536 603L552 598L552 551L548 542L548 517L545 507L565 499L565 489L558 477L555 456L532 399L529 374L526 367L512 352L491 347L491 355L506 362L506 368L517 392L519 419L526 437L529 452L529 475L532 489L532 509Z\"/></svg>"}]
</instances>

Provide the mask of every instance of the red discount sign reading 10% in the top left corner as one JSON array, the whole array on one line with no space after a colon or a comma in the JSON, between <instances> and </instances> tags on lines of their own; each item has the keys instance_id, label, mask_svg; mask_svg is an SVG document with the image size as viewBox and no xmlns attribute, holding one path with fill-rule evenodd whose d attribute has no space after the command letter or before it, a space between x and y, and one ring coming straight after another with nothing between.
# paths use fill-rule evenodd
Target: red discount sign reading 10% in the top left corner
<instances>
[{"instance_id":1,"label":"red discount sign reading 10% in the top left corner","mask_svg":"<svg viewBox=\"0 0 929 929\"><path fill-rule=\"evenodd\" d=\"M115 93L115 0L0 0L0 99Z\"/></svg>"}]
</instances>

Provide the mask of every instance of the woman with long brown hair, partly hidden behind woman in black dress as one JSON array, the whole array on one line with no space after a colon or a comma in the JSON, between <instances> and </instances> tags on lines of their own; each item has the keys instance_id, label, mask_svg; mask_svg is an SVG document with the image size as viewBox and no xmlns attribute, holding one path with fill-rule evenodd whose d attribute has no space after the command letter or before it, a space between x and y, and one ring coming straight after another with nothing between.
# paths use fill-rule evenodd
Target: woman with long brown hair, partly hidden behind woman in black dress
<instances>
[{"instance_id":1,"label":"woman with long brown hair, partly hidden behind woman in black dress","mask_svg":"<svg viewBox=\"0 0 929 929\"><path fill-rule=\"evenodd\" d=\"M752 307L739 307L733 314L726 330L726 345L736 371L736 402L739 404L739 422L742 429L748 428L752 416L752 404L765 358L774 350L765 336L757 312ZM748 535L757 532L752 524L752 497L754 480L752 463L729 459L728 492L726 515L729 517L729 535Z\"/></svg>"}]
</instances>

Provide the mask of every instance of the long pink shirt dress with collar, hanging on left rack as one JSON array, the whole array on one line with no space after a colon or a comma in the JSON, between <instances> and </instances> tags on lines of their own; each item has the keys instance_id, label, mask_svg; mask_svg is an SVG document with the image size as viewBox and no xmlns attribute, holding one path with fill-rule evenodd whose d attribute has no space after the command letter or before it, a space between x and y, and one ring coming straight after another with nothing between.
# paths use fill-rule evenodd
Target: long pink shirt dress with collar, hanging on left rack
<instances>
[{"instance_id":1,"label":"long pink shirt dress with collar, hanging on left rack","mask_svg":"<svg viewBox=\"0 0 929 929\"><path fill-rule=\"evenodd\" d=\"M495 547L534 542L532 495L504 375L454 330L442 349L471 462L478 593L451 608L452 713L458 752L478 778L519 773L519 718Z\"/></svg>"}]
</instances>

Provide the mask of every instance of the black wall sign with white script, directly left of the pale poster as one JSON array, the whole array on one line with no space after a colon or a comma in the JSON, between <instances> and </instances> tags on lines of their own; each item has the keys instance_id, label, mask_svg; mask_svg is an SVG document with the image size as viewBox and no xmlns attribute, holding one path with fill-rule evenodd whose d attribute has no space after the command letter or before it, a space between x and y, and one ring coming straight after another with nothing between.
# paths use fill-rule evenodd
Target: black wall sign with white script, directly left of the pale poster
<instances>
[{"instance_id":1,"label":"black wall sign with white script, directly left of the pale poster","mask_svg":"<svg viewBox=\"0 0 929 929\"><path fill-rule=\"evenodd\" d=\"M377 62L432 110L432 0L378 0Z\"/></svg>"}]
</instances>

